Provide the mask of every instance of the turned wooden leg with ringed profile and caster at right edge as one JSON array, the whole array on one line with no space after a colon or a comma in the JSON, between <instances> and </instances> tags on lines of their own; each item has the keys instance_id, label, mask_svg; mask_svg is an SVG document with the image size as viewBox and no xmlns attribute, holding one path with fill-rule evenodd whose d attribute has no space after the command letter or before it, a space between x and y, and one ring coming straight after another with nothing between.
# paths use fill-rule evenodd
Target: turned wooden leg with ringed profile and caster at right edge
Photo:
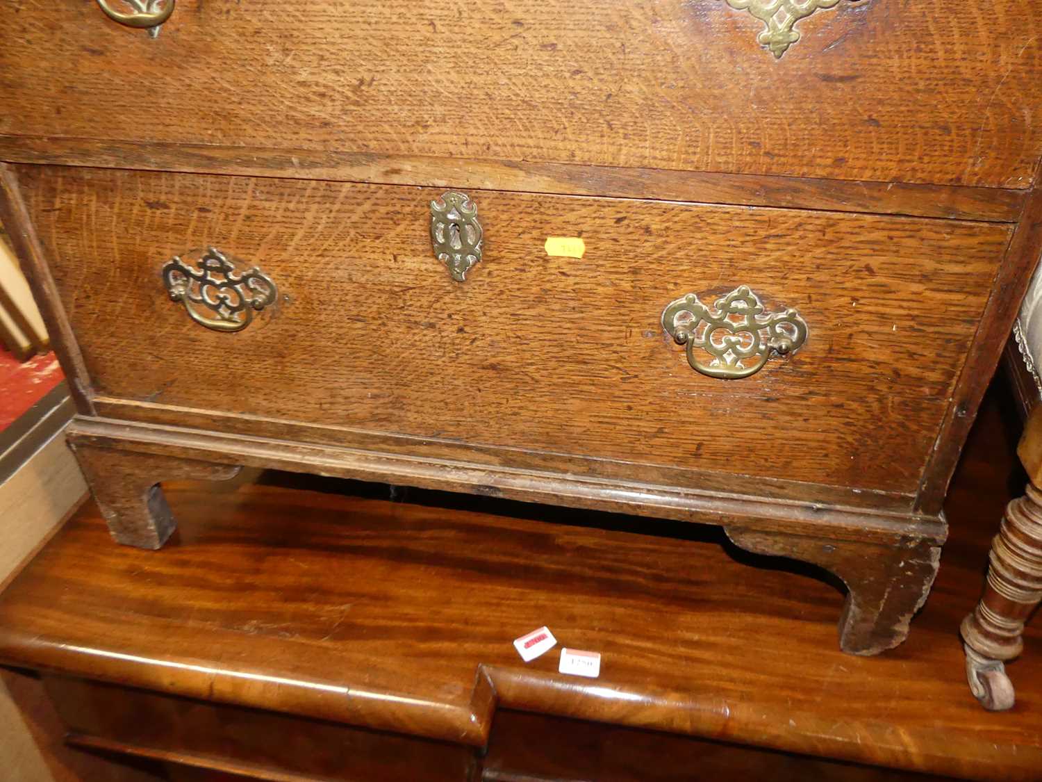
<instances>
[{"instance_id":1,"label":"turned wooden leg with ringed profile and caster at right edge","mask_svg":"<svg viewBox=\"0 0 1042 782\"><path fill-rule=\"evenodd\" d=\"M984 596L963 619L966 679L981 705L992 711L1013 707L1014 689L1006 660L1020 655L1024 621L1042 602L1042 489L1006 508L991 544Z\"/></svg>"}]
</instances>

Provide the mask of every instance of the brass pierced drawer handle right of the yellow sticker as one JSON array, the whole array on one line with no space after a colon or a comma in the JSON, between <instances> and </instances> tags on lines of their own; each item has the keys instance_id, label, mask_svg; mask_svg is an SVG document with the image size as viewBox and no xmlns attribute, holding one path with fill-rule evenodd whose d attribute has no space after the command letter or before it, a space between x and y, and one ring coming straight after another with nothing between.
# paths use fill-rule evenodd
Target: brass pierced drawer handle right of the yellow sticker
<instances>
[{"instance_id":1,"label":"brass pierced drawer handle right of the yellow sticker","mask_svg":"<svg viewBox=\"0 0 1042 782\"><path fill-rule=\"evenodd\" d=\"M662 313L662 326L677 344L687 345L693 369L724 380L755 374L772 356L792 356L807 340L807 323L798 312L764 314L760 297L744 285L712 308L694 293L671 301Z\"/></svg>"}]
</instances>

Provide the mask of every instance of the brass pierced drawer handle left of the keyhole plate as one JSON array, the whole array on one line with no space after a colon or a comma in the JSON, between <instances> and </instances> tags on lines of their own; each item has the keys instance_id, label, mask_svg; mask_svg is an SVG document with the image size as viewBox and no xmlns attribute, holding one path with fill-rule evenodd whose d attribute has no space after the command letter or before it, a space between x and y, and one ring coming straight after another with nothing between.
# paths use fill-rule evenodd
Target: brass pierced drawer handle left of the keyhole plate
<instances>
[{"instance_id":1,"label":"brass pierced drawer handle left of the keyhole plate","mask_svg":"<svg viewBox=\"0 0 1042 782\"><path fill-rule=\"evenodd\" d=\"M191 254L201 254L198 269L174 255L162 273L170 299L184 304L196 323L217 332L240 332L253 320L254 312L278 298L271 277L256 266L237 272L235 264L216 247Z\"/></svg>"}]
</instances>

